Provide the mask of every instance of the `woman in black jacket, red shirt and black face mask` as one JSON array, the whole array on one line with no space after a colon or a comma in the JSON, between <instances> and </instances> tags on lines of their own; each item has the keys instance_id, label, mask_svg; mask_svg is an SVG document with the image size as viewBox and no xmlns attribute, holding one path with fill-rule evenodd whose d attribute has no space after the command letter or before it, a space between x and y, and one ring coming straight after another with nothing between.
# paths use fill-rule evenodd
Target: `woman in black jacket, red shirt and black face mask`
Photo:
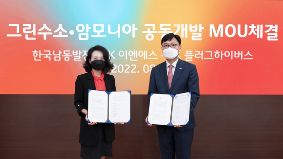
<instances>
[{"instance_id":1,"label":"woman in black jacket, red shirt and black face mask","mask_svg":"<svg viewBox=\"0 0 283 159\"><path fill-rule=\"evenodd\" d=\"M112 142L115 128L111 123L87 123L88 89L116 91L114 76L109 75L113 64L106 48L97 45L87 52L83 68L87 73L79 75L75 87L75 107L80 119L80 156L86 158L105 158L112 156ZM118 125L123 123L118 123Z\"/></svg>"}]
</instances>

